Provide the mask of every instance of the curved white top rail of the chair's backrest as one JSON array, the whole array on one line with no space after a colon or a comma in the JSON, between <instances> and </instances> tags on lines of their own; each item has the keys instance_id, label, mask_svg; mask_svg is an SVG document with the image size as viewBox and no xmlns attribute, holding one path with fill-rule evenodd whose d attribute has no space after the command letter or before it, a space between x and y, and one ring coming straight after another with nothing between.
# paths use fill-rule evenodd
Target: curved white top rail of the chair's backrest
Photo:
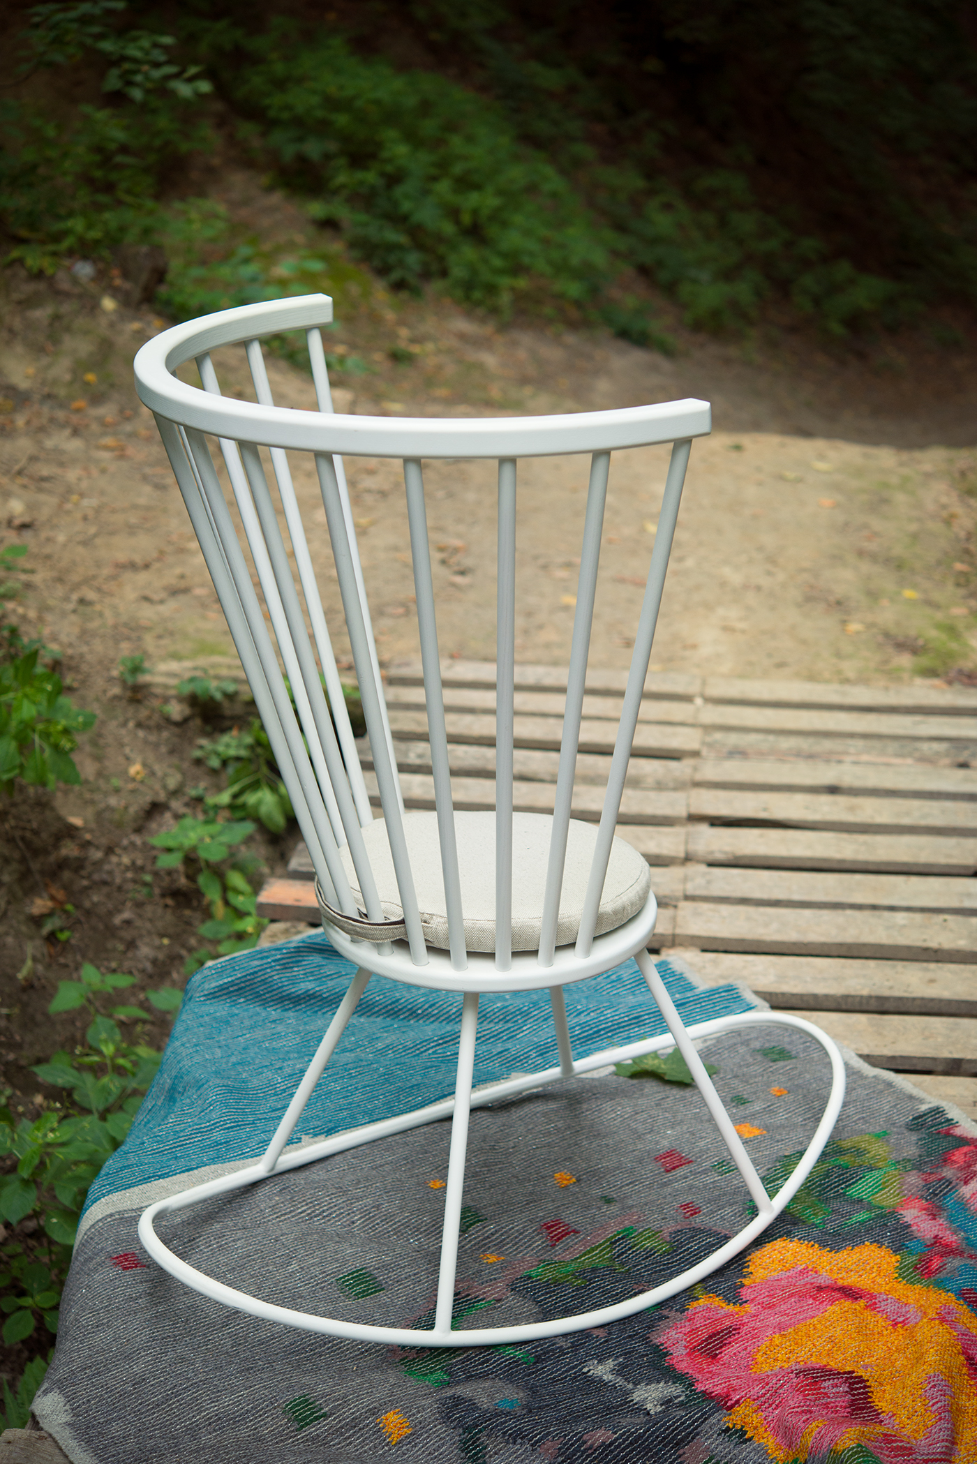
<instances>
[{"instance_id":1,"label":"curved white top rail of the chair's backrest","mask_svg":"<svg viewBox=\"0 0 977 1464\"><path fill-rule=\"evenodd\" d=\"M519 458L599 452L700 438L712 429L709 403L694 397L649 407L539 417L360 417L215 397L173 375L177 366L218 346L277 331L312 329L331 319L330 297L306 294L218 310L174 325L139 350L133 366L136 392L158 416L221 438L366 457Z\"/></svg>"}]
</instances>

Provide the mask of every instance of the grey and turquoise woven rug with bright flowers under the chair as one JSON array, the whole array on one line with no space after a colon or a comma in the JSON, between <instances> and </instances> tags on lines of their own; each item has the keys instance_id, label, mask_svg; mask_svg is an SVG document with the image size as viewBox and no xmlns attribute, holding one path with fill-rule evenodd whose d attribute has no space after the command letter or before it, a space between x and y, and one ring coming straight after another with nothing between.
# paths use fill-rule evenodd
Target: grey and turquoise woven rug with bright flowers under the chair
<instances>
[{"instance_id":1,"label":"grey and turquoise woven rug with bright flowers under the chair","mask_svg":"<svg viewBox=\"0 0 977 1464\"><path fill-rule=\"evenodd\" d=\"M762 1006L659 971L687 1022ZM35 1401L72 1464L977 1460L977 1135L857 1058L833 1139L788 1211L703 1285L606 1328L458 1350L425 1347L419 1331L416 1347L375 1347L255 1321L160 1271L136 1239L141 1211L262 1151L350 974L316 933L190 982L160 1076L92 1190ZM664 1031L633 962L565 997L580 1054ZM458 1009L374 978L303 1133L450 1092ZM775 1192L820 1117L826 1057L773 1026L705 1056ZM546 993L482 998L476 1082L554 1060ZM750 1200L696 1089L631 1073L472 1116L458 1328L589 1312L741 1228ZM160 1230L258 1296L422 1329L448 1133L438 1123L335 1155Z\"/></svg>"}]
</instances>

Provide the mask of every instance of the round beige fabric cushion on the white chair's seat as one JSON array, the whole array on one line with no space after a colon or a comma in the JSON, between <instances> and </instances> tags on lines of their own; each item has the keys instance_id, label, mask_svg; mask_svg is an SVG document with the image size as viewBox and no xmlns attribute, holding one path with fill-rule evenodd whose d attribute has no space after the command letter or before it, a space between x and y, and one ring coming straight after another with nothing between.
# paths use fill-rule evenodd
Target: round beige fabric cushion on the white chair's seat
<instances>
[{"instance_id":1,"label":"round beige fabric cushion on the white chair's seat","mask_svg":"<svg viewBox=\"0 0 977 1464\"><path fill-rule=\"evenodd\" d=\"M513 814L513 950L539 949L551 824L549 814ZM457 813L454 827L461 877L464 944L467 950L492 952L495 950L495 814ZM441 877L438 815L420 811L404 814L404 833L425 938L429 946L447 950L448 918ZM557 925L558 946L567 946L577 938L596 837L596 824L580 823L576 818L570 821ZM398 921L403 909L382 818L363 829L363 840L384 916ZM343 862L353 886L353 896L362 906L349 849L343 849ZM647 900L650 886L650 870L642 855L630 843L615 839L603 881L596 934L617 930L636 915Z\"/></svg>"}]
</instances>

